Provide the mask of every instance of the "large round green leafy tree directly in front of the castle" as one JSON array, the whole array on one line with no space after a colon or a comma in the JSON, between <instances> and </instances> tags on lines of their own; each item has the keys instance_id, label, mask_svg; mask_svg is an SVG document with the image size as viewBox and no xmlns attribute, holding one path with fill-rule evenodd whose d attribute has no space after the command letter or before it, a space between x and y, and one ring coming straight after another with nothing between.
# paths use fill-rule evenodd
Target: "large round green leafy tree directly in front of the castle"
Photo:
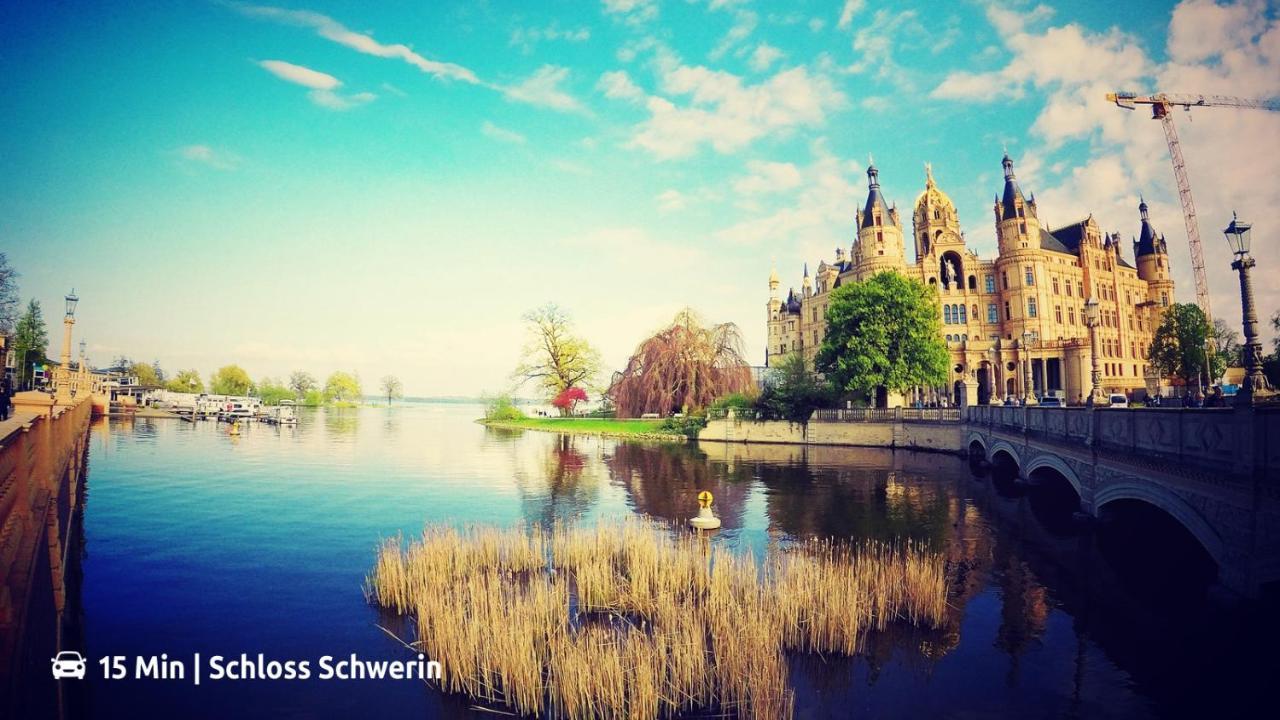
<instances>
[{"instance_id":1,"label":"large round green leafy tree directly in front of the castle","mask_svg":"<svg viewBox=\"0 0 1280 720\"><path fill-rule=\"evenodd\" d=\"M884 272L832 291L817 368L837 389L940 386L947 363L936 288Z\"/></svg>"}]
</instances>

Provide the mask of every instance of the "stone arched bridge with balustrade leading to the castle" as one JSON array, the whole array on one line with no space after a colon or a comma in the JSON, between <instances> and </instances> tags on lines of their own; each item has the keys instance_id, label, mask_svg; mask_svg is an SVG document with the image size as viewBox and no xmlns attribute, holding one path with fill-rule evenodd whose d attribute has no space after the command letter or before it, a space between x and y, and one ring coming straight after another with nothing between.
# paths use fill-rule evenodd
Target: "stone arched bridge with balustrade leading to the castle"
<instances>
[{"instance_id":1,"label":"stone arched bridge with balustrade leading to the castle","mask_svg":"<svg viewBox=\"0 0 1280 720\"><path fill-rule=\"evenodd\" d=\"M1280 580L1280 407L972 406L964 442L1032 484L1066 480L1088 515L1117 501L1160 509L1235 592Z\"/></svg>"}]
</instances>

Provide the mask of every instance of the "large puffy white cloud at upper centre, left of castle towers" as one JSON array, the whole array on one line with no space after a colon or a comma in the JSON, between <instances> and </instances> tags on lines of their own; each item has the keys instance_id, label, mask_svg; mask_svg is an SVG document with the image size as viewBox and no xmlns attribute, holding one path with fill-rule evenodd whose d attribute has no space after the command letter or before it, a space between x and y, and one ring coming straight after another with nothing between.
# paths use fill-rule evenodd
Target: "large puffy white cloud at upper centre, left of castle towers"
<instances>
[{"instance_id":1,"label":"large puffy white cloud at upper centre, left of castle towers","mask_svg":"<svg viewBox=\"0 0 1280 720\"><path fill-rule=\"evenodd\" d=\"M684 97L681 106L662 96L645 101L649 119L635 128L630 146L660 159L684 158L700 146L733 152L772 133L817 127L845 96L822 74L805 68L780 72L756 85L723 70L659 61L663 94Z\"/></svg>"}]
</instances>

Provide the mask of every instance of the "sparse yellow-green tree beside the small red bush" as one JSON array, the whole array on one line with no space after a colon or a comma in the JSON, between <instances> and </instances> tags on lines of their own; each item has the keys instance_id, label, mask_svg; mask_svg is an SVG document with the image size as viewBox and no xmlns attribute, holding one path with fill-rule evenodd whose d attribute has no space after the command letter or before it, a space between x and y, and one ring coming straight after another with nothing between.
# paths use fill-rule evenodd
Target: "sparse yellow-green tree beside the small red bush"
<instances>
[{"instance_id":1,"label":"sparse yellow-green tree beside the small red bush","mask_svg":"<svg viewBox=\"0 0 1280 720\"><path fill-rule=\"evenodd\" d=\"M573 334L568 314L549 302L526 313L525 325L525 348L512 373L517 386L536 382L548 398L564 388L594 387L593 380L600 374L600 354Z\"/></svg>"}]
</instances>

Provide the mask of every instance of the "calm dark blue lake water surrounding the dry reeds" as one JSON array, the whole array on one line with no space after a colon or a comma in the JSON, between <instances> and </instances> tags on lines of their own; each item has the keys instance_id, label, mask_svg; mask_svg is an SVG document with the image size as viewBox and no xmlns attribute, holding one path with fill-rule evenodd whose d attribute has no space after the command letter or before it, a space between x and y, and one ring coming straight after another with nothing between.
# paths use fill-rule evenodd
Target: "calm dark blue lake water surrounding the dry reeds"
<instances>
[{"instance_id":1,"label":"calm dark blue lake water surrounding the dry reeds","mask_svg":"<svg viewBox=\"0 0 1280 720\"><path fill-rule=\"evenodd\" d=\"M471 421L479 413L307 411L297 428L251 424L238 438L214 423L96 421L82 559L93 669L73 707L492 719L419 682L195 687L104 680L96 661L166 653L189 673L197 652L407 659L362 593L383 538L428 523L681 521L699 489L724 521L714 542L744 552L817 534L916 538L950 560L947 626L895 628L854 659L796 659L797 717L1229 715L1276 676L1275 612L1213 605L1194 548L1155 520L1082 528L1052 488L975 478L945 455L639 445L493 430Z\"/></svg>"}]
</instances>

